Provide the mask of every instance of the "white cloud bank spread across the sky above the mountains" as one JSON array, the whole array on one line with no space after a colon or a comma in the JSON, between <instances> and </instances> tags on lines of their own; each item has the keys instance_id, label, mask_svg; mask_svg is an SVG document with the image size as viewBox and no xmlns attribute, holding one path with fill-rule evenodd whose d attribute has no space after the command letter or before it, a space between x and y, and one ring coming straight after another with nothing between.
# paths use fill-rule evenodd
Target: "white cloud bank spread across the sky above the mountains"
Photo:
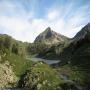
<instances>
[{"instance_id":1,"label":"white cloud bank spread across the sky above the mountains","mask_svg":"<svg viewBox=\"0 0 90 90\"><path fill-rule=\"evenodd\" d=\"M17 40L32 42L39 33L50 26L58 33L73 37L83 25L88 23L90 13L85 17L85 6L71 15L72 7L73 3L60 8L50 8L44 18L36 18L34 11L25 12L22 5L3 2L0 4L0 13L4 14L0 15L0 28L3 28L0 33L6 32ZM9 9L12 16L6 13Z\"/></svg>"}]
</instances>

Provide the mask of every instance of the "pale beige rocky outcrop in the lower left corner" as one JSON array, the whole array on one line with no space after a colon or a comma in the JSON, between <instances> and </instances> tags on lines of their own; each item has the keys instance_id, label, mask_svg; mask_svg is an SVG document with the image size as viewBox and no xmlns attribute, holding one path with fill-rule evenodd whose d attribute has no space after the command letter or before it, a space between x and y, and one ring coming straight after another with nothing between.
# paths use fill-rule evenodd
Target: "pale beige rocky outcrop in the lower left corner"
<instances>
[{"instance_id":1,"label":"pale beige rocky outcrop in the lower left corner","mask_svg":"<svg viewBox=\"0 0 90 90\"><path fill-rule=\"evenodd\" d=\"M0 88L12 87L17 81L17 77L12 71L9 62L0 63Z\"/></svg>"}]
</instances>

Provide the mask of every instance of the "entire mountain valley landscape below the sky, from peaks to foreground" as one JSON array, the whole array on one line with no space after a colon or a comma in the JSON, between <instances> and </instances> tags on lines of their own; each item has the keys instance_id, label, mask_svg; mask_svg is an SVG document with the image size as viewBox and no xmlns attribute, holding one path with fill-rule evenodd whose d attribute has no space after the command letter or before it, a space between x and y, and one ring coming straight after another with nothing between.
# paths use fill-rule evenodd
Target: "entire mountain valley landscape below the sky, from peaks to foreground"
<instances>
[{"instance_id":1,"label":"entire mountain valley landscape below the sky, from peaks to foreground","mask_svg":"<svg viewBox=\"0 0 90 90\"><path fill-rule=\"evenodd\" d=\"M48 27L33 43L0 34L0 88L90 90L90 23L73 38Z\"/></svg>"}]
</instances>

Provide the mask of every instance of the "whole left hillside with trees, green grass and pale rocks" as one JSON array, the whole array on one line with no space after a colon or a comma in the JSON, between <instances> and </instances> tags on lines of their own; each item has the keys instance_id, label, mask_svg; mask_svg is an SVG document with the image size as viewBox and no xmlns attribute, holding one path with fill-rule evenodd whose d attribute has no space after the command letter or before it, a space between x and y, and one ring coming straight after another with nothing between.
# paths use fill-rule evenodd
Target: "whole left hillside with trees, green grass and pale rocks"
<instances>
[{"instance_id":1,"label":"whole left hillside with trees, green grass and pale rocks","mask_svg":"<svg viewBox=\"0 0 90 90\"><path fill-rule=\"evenodd\" d=\"M33 64L32 61L25 59L25 48L25 43L17 41L6 34L0 35L0 82L3 82L0 83L0 87L15 86L20 76ZM3 75L7 79L16 77L17 81L14 82L14 79L12 81L4 80Z\"/></svg>"}]
</instances>

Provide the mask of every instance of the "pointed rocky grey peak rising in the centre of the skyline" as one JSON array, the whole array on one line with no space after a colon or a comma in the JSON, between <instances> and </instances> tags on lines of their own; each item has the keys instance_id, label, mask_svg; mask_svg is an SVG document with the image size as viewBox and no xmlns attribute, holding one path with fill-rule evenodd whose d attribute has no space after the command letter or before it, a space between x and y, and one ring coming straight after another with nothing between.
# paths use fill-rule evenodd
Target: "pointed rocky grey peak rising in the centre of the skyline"
<instances>
[{"instance_id":1,"label":"pointed rocky grey peak rising in the centre of the skyline","mask_svg":"<svg viewBox=\"0 0 90 90\"><path fill-rule=\"evenodd\" d=\"M65 42L68 40L67 37L56 33L55 31L51 30L50 27L46 28L44 32L39 34L34 42L44 42L46 44L56 44L59 42Z\"/></svg>"}]
</instances>

